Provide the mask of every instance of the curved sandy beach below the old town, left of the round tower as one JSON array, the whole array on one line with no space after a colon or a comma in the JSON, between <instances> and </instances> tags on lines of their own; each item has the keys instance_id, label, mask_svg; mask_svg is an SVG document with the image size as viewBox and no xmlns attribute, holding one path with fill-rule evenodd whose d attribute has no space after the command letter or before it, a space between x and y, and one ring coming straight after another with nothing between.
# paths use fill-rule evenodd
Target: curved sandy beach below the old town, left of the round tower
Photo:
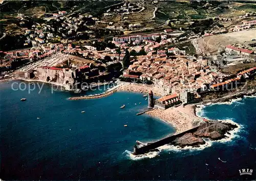
<instances>
[{"instance_id":1,"label":"curved sandy beach below the old town, left of the round tower","mask_svg":"<svg viewBox=\"0 0 256 181\"><path fill-rule=\"evenodd\" d=\"M164 96L164 90L162 87L156 85L147 85L139 83L122 82L118 91L137 92L137 93L148 93L152 90L153 94L159 97Z\"/></svg>"}]
</instances>

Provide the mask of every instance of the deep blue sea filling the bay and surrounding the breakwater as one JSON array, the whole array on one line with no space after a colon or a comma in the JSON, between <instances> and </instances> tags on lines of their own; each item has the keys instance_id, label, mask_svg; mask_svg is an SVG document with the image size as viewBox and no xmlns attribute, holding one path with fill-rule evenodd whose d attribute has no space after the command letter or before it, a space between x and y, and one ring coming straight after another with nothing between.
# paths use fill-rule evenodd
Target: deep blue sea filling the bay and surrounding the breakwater
<instances>
[{"instance_id":1,"label":"deep blue sea filling the bay and surrounding the breakwater","mask_svg":"<svg viewBox=\"0 0 256 181\"><path fill-rule=\"evenodd\" d=\"M28 83L20 86L24 90L12 90L12 83L0 83L3 180L256 179L254 97L198 109L198 116L238 124L226 140L206 140L207 145L199 148L163 146L160 152L135 157L131 152L136 140L151 142L175 133L161 120L136 116L147 105L142 94L118 92L71 101L67 98L72 94L62 90L52 94L48 84L40 93L36 86L29 94ZM240 176L239 170L247 168L253 169L252 175Z\"/></svg>"}]
</instances>

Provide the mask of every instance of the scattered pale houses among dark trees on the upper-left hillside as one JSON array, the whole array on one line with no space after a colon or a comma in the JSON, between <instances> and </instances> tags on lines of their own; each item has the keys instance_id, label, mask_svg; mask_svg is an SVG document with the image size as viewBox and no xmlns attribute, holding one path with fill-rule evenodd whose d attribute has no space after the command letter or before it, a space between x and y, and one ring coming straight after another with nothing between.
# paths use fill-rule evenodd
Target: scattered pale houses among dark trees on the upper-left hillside
<instances>
[{"instance_id":1,"label":"scattered pale houses among dark trees on the upper-left hillside","mask_svg":"<svg viewBox=\"0 0 256 181\"><path fill-rule=\"evenodd\" d=\"M93 17L92 15L78 15L78 17L67 17L68 13L66 11L59 11L58 13L46 14L45 20L50 21L54 20L58 22L57 24L40 24L33 25L31 29L23 28L24 35L27 36L27 40L24 42L24 46L32 43L33 47L39 46L46 42L51 42L50 40L60 40L61 38L66 38L68 36L81 34L79 32L79 27L94 25L98 18ZM24 15L19 14L18 17L22 18ZM87 21L84 21L86 18ZM57 26L60 25L60 26ZM57 27L56 27L57 26ZM85 31L91 38L94 38L94 31L87 30Z\"/></svg>"}]
</instances>

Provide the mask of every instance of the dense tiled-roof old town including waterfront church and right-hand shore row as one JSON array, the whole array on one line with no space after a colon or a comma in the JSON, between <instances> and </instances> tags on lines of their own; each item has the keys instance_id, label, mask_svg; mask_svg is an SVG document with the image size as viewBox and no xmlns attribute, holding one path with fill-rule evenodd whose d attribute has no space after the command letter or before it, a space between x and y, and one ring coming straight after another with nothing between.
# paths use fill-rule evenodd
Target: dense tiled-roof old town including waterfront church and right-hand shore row
<instances>
[{"instance_id":1,"label":"dense tiled-roof old town including waterfront church and right-hand shore row","mask_svg":"<svg viewBox=\"0 0 256 181\"><path fill-rule=\"evenodd\" d=\"M254 75L256 67L243 71L235 78L220 72L212 72L205 59L187 56L137 56L137 60L123 72L123 77L133 80L153 81L167 96L155 101L159 108L186 104L208 91L228 89L243 78Z\"/></svg>"}]
</instances>

